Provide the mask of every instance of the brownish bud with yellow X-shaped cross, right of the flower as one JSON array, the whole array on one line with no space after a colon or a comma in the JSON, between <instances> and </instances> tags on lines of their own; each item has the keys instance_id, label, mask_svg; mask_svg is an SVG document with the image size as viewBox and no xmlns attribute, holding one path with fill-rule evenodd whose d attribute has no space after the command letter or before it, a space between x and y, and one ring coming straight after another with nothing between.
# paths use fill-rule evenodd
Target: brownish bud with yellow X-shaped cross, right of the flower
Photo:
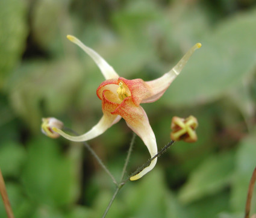
<instances>
[{"instance_id":1,"label":"brownish bud with yellow X-shaped cross, right of the flower","mask_svg":"<svg viewBox=\"0 0 256 218\"><path fill-rule=\"evenodd\" d=\"M189 116L186 119L176 116L172 117L170 139L173 141L196 142L198 140L195 131L197 127L198 120L194 116Z\"/></svg>"}]
</instances>

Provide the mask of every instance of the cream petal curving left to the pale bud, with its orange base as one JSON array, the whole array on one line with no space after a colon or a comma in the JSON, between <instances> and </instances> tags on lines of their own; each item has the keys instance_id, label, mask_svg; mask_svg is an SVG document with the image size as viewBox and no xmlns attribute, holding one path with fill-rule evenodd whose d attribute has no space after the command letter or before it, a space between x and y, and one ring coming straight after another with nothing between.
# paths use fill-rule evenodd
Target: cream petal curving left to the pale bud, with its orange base
<instances>
[{"instance_id":1,"label":"cream petal curving left to the pale bud, with its orange base","mask_svg":"<svg viewBox=\"0 0 256 218\"><path fill-rule=\"evenodd\" d=\"M73 142L84 142L84 141L93 139L98 135L101 135L108 128L110 128L110 126L114 125L122 118L116 114L111 114L111 112L114 111L114 109L119 106L119 104L113 103L106 98L106 96L110 98L111 95L113 95L113 93L111 93L109 90L104 90L103 99L102 99L102 111L104 115L102 116L101 120L99 120L99 122L85 134L79 135L79 136L72 136L72 135L66 134L60 129L57 129L57 128L52 128L52 129L58 134L62 135L64 138L69 139L70 141L73 141Z\"/></svg>"}]
</instances>

